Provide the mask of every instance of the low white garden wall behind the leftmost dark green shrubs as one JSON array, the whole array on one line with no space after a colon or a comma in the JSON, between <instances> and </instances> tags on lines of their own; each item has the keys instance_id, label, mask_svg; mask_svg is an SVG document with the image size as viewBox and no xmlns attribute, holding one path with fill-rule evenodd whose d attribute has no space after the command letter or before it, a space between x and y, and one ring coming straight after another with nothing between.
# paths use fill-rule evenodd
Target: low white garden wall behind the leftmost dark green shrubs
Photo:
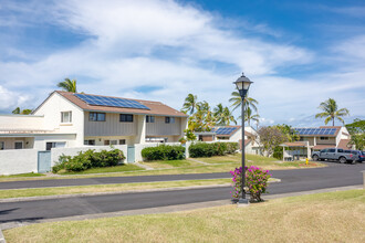
<instances>
[{"instance_id":1,"label":"low white garden wall behind the leftmost dark green shrubs","mask_svg":"<svg viewBox=\"0 0 365 243\"><path fill-rule=\"evenodd\" d=\"M111 146L84 146L77 148L52 148L51 152L51 166L53 167L55 162L59 161L60 156L76 156L80 151L87 151L88 149L94 149L95 151L101 150L113 150L119 149L123 151L124 156L127 157L127 146L126 145L115 145ZM127 160L125 159L125 162Z\"/></svg>"}]
</instances>

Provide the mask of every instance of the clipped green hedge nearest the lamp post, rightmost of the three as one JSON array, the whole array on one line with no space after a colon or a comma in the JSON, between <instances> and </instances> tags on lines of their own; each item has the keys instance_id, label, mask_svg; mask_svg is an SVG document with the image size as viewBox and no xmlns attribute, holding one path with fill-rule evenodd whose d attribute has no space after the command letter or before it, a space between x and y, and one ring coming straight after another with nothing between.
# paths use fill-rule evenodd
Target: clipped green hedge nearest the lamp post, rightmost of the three
<instances>
[{"instance_id":1,"label":"clipped green hedge nearest the lamp post, rightmost of the three","mask_svg":"<svg viewBox=\"0 0 365 243\"><path fill-rule=\"evenodd\" d=\"M189 154L192 158L223 156L227 154L234 154L238 149L238 142L196 142L190 145Z\"/></svg>"}]
</instances>

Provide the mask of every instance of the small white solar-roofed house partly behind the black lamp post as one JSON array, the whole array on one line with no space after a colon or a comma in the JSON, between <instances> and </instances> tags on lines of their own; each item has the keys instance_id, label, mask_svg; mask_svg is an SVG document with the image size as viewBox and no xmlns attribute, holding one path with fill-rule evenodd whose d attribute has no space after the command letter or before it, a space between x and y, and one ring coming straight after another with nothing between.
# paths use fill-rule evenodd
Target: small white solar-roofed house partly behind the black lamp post
<instances>
[{"instance_id":1,"label":"small white solar-roofed house partly behind the black lamp post","mask_svg":"<svg viewBox=\"0 0 365 243\"><path fill-rule=\"evenodd\" d=\"M217 126L211 131L195 133L200 141L236 141L241 146L241 126ZM252 127L244 127L244 149L247 154L261 155L260 137Z\"/></svg>"}]
</instances>

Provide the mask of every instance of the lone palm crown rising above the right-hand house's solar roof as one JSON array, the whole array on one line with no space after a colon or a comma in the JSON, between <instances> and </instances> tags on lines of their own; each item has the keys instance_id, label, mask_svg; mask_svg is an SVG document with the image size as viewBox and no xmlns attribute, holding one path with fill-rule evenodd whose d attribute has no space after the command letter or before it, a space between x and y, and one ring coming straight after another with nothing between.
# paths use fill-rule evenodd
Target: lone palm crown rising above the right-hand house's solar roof
<instances>
[{"instance_id":1,"label":"lone palm crown rising above the right-hand house's solar roof","mask_svg":"<svg viewBox=\"0 0 365 243\"><path fill-rule=\"evenodd\" d=\"M325 117L325 119L324 119L325 125L327 125L327 123L330 120L332 120L332 126L334 126L335 118L344 124L344 120L343 120L342 116L348 116L350 115L350 112L348 112L347 108L338 109L337 103L333 98L328 98L327 101L322 102L319 108L322 109L323 113L316 114L315 118Z\"/></svg>"}]
</instances>

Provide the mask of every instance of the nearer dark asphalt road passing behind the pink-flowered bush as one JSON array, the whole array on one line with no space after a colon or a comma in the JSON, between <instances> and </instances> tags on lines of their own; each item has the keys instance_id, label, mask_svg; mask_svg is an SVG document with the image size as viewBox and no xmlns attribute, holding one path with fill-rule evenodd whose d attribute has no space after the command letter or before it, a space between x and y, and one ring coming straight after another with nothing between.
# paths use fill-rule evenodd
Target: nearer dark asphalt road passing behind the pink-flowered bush
<instances>
[{"instance_id":1,"label":"nearer dark asphalt road passing behind the pink-flowered bush","mask_svg":"<svg viewBox=\"0 0 365 243\"><path fill-rule=\"evenodd\" d=\"M363 183L365 163L327 168L272 171L282 182L269 186L271 194ZM218 173L220 175L220 173ZM181 175L187 176L187 175ZM114 183L114 182L113 182ZM38 201L0 203L0 223L116 212L230 199L230 187L158 192L116 193Z\"/></svg>"}]
</instances>

